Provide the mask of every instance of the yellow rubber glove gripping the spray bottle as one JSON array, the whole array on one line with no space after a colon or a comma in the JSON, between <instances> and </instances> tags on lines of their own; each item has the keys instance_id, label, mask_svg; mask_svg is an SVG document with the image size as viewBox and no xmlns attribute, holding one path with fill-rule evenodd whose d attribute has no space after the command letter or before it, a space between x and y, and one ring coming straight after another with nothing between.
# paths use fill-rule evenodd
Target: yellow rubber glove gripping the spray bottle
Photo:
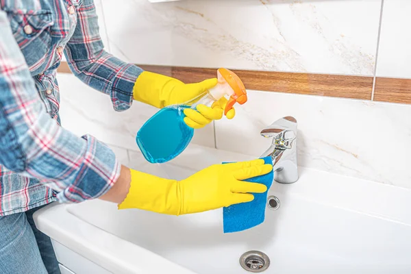
<instances>
[{"instance_id":1,"label":"yellow rubber glove gripping the spray bottle","mask_svg":"<svg viewBox=\"0 0 411 274\"><path fill-rule=\"evenodd\" d=\"M134 84L133 97L142 103L148 103L156 108L164 108L168 105L186 103L199 97L199 95L213 88L217 79L206 79L195 84L184 84L183 82L165 75L144 71L140 74ZM197 111L184 110L186 117L184 122L192 128L198 129L219 120L223 117L223 109L227 99L222 98L215 102L211 108L206 105L197 105ZM233 119L236 112L234 108L227 112L227 118Z\"/></svg>"}]
</instances>

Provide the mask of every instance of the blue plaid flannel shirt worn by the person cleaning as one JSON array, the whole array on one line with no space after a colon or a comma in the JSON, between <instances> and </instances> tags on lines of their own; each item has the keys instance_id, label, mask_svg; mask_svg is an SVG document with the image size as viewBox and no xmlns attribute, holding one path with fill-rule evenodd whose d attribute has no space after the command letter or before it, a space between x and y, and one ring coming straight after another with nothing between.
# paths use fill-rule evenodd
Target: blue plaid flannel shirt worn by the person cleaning
<instances>
[{"instance_id":1,"label":"blue plaid flannel shirt worn by the person cleaning","mask_svg":"<svg viewBox=\"0 0 411 274\"><path fill-rule=\"evenodd\" d=\"M0 0L0 216L94 199L119 177L111 149L60 127L63 53L115 110L132 104L142 70L103 50L92 0Z\"/></svg>"}]
</instances>

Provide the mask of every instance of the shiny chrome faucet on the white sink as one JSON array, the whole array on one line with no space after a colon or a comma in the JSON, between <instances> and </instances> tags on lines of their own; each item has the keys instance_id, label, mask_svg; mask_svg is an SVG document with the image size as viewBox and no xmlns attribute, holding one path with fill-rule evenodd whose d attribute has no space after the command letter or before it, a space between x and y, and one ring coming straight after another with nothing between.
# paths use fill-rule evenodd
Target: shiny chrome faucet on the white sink
<instances>
[{"instance_id":1,"label":"shiny chrome faucet on the white sink","mask_svg":"<svg viewBox=\"0 0 411 274\"><path fill-rule=\"evenodd\" d=\"M271 156L275 181L282 184L297 182L297 120L291 116L279 119L262 129L261 136L273 138L271 147L261 157Z\"/></svg>"}]
</instances>

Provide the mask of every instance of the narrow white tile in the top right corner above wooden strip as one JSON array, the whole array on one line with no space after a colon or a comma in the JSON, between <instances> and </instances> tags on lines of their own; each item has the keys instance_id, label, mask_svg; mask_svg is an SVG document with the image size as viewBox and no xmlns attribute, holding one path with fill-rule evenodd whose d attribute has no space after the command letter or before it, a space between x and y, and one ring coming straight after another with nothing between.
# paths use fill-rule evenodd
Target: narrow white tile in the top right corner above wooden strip
<instances>
[{"instance_id":1,"label":"narrow white tile in the top right corner above wooden strip","mask_svg":"<svg viewBox=\"0 0 411 274\"><path fill-rule=\"evenodd\" d=\"M411 1L385 0L377 60L377 76L411 77Z\"/></svg>"}]
</instances>

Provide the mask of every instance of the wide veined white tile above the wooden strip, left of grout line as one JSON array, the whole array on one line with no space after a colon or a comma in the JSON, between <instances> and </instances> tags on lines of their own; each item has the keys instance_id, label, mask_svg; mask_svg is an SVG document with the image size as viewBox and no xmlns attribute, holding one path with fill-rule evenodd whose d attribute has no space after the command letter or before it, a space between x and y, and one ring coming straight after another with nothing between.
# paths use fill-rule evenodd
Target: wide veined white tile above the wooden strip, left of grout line
<instances>
[{"instance_id":1,"label":"wide veined white tile above the wooden strip, left of grout line","mask_svg":"<svg viewBox=\"0 0 411 274\"><path fill-rule=\"evenodd\" d=\"M381 0L104 0L110 49L138 64L373 75Z\"/></svg>"}]
</instances>

